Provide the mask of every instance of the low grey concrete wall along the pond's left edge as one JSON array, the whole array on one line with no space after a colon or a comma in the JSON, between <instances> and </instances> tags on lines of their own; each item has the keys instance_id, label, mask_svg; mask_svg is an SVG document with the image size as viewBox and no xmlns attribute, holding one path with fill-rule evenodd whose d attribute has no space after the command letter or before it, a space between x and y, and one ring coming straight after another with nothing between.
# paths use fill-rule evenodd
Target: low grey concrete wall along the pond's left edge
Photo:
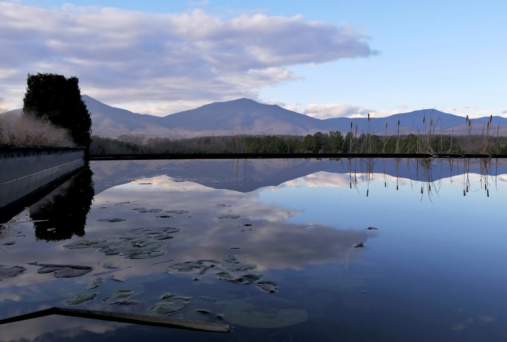
<instances>
[{"instance_id":1,"label":"low grey concrete wall along the pond's left edge","mask_svg":"<svg viewBox=\"0 0 507 342\"><path fill-rule=\"evenodd\" d=\"M82 148L0 149L0 209L85 166Z\"/></svg>"}]
</instances>

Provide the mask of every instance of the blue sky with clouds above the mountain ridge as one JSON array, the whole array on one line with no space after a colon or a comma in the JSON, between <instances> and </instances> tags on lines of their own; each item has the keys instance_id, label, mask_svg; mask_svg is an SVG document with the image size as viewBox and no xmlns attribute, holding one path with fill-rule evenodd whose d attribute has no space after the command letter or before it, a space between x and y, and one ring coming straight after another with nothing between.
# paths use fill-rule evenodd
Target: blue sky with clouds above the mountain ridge
<instances>
[{"instance_id":1,"label":"blue sky with clouds above the mountain ridge","mask_svg":"<svg viewBox=\"0 0 507 342\"><path fill-rule=\"evenodd\" d=\"M165 116L247 97L320 119L507 117L504 0L0 2L0 108L28 74Z\"/></svg>"}]
</instances>

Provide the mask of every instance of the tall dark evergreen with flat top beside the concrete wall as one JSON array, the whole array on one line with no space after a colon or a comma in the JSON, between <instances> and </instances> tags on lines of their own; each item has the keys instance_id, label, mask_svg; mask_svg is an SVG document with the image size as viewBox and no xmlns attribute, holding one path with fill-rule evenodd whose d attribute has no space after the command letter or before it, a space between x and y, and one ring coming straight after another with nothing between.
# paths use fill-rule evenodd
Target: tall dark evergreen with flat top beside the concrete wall
<instances>
[{"instance_id":1,"label":"tall dark evergreen with flat top beside the concrete wall","mask_svg":"<svg viewBox=\"0 0 507 342\"><path fill-rule=\"evenodd\" d=\"M56 74L28 74L23 111L47 118L53 124L69 130L78 146L91 143L91 117L81 98L77 77Z\"/></svg>"}]
</instances>

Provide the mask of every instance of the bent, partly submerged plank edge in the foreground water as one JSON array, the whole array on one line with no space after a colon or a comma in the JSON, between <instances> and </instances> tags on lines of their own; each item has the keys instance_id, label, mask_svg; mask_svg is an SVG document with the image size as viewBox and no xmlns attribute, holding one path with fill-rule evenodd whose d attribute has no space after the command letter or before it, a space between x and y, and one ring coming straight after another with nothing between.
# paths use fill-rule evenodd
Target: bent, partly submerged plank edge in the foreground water
<instances>
[{"instance_id":1,"label":"bent, partly submerged plank edge in the foreground water","mask_svg":"<svg viewBox=\"0 0 507 342\"><path fill-rule=\"evenodd\" d=\"M5 318L0 320L0 325L50 315L61 315L61 316L96 319L101 321L153 325L167 328L208 331L208 332L230 332L232 330L232 327L230 325L223 323L202 322L170 317L136 315L136 314L116 313L98 310L63 309L60 307L51 307L50 309L41 310L30 314Z\"/></svg>"}]
</instances>

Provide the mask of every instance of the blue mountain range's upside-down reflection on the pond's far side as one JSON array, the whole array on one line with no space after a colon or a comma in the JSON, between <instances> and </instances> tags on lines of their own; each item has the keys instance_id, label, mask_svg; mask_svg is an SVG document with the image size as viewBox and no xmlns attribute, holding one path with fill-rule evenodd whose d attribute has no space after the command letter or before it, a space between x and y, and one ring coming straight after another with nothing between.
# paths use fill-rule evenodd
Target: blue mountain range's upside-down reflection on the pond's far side
<instances>
[{"instance_id":1,"label":"blue mountain range's upside-down reflection on the pond's far side","mask_svg":"<svg viewBox=\"0 0 507 342\"><path fill-rule=\"evenodd\" d=\"M265 186L317 172L336 174L386 174L414 181L436 182L465 173L498 176L507 174L505 160L478 159L248 159L172 161L95 161L96 193L134 179L167 175L192 180L215 189L250 192Z\"/></svg>"}]
</instances>

